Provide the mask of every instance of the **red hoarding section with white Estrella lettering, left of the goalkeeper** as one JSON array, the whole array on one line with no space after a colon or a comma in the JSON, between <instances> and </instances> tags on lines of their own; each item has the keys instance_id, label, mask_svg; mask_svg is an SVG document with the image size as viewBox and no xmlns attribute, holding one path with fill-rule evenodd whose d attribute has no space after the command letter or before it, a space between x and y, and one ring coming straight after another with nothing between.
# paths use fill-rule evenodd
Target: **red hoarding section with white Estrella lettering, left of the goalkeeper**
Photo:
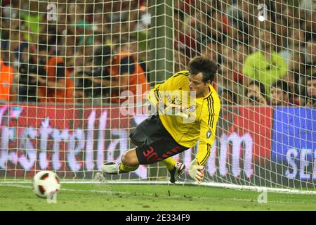
<instances>
[{"instance_id":1,"label":"red hoarding section with white Estrella lettering, left of the goalkeeper","mask_svg":"<svg viewBox=\"0 0 316 225\"><path fill-rule=\"evenodd\" d=\"M130 120L119 108L1 105L0 175L100 170L107 148L114 160L127 149Z\"/></svg>"}]
</instances>

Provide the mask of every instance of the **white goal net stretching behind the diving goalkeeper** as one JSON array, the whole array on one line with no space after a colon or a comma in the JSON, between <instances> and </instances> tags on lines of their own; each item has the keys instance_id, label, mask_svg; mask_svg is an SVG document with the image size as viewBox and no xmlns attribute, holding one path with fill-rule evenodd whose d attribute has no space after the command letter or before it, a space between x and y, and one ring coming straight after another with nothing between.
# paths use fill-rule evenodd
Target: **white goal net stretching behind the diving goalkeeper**
<instances>
[{"instance_id":1,"label":"white goal net stretching behind the diving goalkeeper","mask_svg":"<svg viewBox=\"0 0 316 225\"><path fill-rule=\"evenodd\" d=\"M208 56L221 110L204 184L316 191L315 4L2 0L0 181L90 181L135 147L150 88ZM196 153L174 158L188 169ZM105 179L168 176L156 163Z\"/></svg>"}]
</instances>

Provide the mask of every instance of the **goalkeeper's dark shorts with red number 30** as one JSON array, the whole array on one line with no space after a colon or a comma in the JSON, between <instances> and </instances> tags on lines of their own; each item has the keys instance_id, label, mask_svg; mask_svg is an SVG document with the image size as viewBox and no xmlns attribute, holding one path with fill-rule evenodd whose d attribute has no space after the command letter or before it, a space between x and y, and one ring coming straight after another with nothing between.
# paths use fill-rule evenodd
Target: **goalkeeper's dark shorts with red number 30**
<instances>
[{"instance_id":1,"label":"goalkeeper's dark shorts with red number 30","mask_svg":"<svg viewBox=\"0 0 316 225\"><path fill-rule=\"evenodd\" d=\"M152 115L138 124L129 137L133 143L138 143L136 155L140 165L159 162L188 149L176 143L159 115Z\"/></svg>"}]
</instances>

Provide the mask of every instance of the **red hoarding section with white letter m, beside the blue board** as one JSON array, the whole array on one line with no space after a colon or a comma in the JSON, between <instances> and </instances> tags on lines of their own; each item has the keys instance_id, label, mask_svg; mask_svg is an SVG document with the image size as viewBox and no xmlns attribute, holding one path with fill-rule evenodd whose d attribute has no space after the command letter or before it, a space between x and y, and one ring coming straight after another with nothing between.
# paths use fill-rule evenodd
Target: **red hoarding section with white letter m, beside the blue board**
<instances>
[{"instance_id":1,"label":"red hoarding section with white letter m, beside the blue board","mask_svg":"<svg viewBox=\"0 0 316 225\"><path fill-rule=\"evenodd\" d=\"M254 164L270 159L273 108L223 107L218 120L217 139L208 164L209 175L250 178Z\"/></svg>"}]
</instances>

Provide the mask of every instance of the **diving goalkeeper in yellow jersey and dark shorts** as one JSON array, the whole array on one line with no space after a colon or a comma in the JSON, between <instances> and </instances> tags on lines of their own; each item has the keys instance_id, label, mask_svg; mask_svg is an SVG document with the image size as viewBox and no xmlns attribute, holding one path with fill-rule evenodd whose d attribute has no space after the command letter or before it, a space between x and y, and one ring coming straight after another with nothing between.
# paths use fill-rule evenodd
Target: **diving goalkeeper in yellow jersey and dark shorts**
<instances>
[{"instance_id":1,"label":"diving goalkeeper in yellow jersey and dark shorts","mask_svg":"<svg viewBox=\"0 0 316 225\"><path fill-rule=\"evenodd\" d=\"M177 72L154 86L148 99L156 106L157 114L138 124L130 135L137 147L127 150L120 163L105 162L102 171L119 174L162 161L170 172L171 183L175 183L185 165L171 156L192 148L199 140L189 174L200 184L220 112L220 100L211 85L216 70L213 60L197 56L190 60L189 70Z\"/></svg>"}]
</instances>

